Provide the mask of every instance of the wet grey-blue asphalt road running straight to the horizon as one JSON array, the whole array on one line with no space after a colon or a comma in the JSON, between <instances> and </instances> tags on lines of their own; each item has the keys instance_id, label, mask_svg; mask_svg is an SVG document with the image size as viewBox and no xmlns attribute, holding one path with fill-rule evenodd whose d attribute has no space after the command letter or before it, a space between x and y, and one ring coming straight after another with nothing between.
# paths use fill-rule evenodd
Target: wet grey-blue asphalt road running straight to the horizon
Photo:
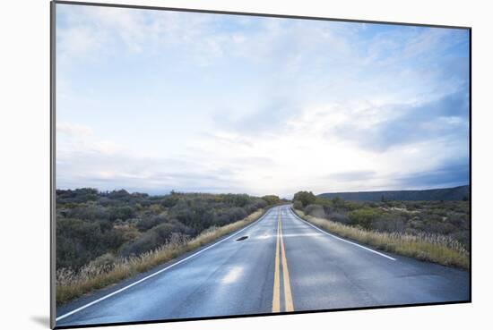
<instances>
[{"instance_id":1,"label":"wet grey-blue asphalt road running straight to the horizon","mask_svg":"<svg viewBox=\"0 0 493 330\"><path fill-rule=\"evenodd\" d=\"M469 299L468 272L344 241L281 206L225 240L57 309L56 326Z\"/></svg>"}]
</instances>

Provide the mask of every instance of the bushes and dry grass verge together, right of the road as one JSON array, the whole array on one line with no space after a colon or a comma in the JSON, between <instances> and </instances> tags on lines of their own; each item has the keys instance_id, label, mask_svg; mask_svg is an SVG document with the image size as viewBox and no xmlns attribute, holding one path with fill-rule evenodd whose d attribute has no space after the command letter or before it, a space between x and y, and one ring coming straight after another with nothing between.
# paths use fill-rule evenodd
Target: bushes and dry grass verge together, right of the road
<instances>
[{"instance_id":1,"label":"bushes and dry grass verge together, right of the road","mask_svg":"<svg viewBox=\"0 0 493 330\"><path fill-rule=\"evenodd\" d=\"M469 201L345 201L299 191L298 216L379 250L468 269Z\"/></svg>"}]
</instances>

